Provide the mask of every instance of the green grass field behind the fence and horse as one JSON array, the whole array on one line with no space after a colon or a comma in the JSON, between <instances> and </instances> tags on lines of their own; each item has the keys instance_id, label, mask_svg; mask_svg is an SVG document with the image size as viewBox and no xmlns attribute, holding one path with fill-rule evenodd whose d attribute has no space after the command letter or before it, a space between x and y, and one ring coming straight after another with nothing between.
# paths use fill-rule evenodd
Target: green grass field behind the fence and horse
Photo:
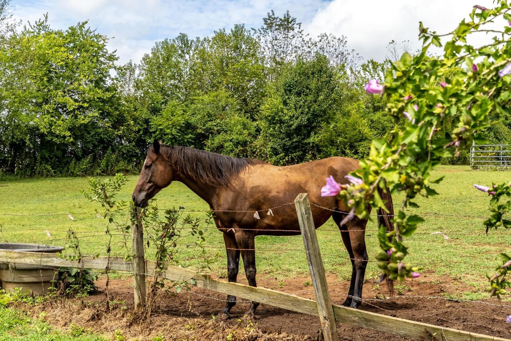
<instances>
[{"instance_id":1,"label":"green grass field behind the fence and horse","mask_svg":"<svg viewBox=\"0 0 511 341\"><path fill-rule=\"evenodd\" d=\"M443 214L446 216L427 216L417 234L407 238L409 246L408 262L421 265L429 273L449 275L459 278L460 281L473 286L473 291L481 290L485 282L485 274L493 273L493 269L480 266L497 266L499 252L511 251L511 231L508 235L495 235L490 231L489 236L484 235L483 219L459 217L482 216L489 213L487 210L489 198L482 192L474 189L473 183L490 185L492 181L503 182L509 180L510 172L481 172L470 171L468 166L439 166L433 177L445 176L442 183L434 187L437 197L430 199L420 198L416 202L421 206L414 209L418 214ZM132 176L125 185L120 198L129 200L133 190L136 176ZM88 202L81 189L87 187L86 178L49 178L30 179L0 182L0 242L27 242L66 246L67 232L72 228L79 232L80 250L84 254L105 253L108 238L104 235L106 222L96 217L95 209L100 209L96 203ZM157 196L158 207L171 208L184 206L189 210L206 210L205 202L181 183L173 183L162 190ZM394 198L394 204L400 205L400 197ZM84 215L80 213L88 212ZM26 216L10 216L5 214ZM33 216L59 213L55 216ZM67 217L73 214L74 220ZM92 213L92 214L90 214ZM199 214L199 216L202 214ZM450 216L456 215L456 216ZM366 233L366 243L369 259L374 260L377 250L375 222L369 222ZM52 238L47 236L49 230ZM318 231L321 252L325 255L323 262L328 272L334 273L339 280L347 280L351 275L351 265L347 252L344 249L339 233L328 231L336 229L330 220ZM97 231L97 232L95 232ZM445 240L442 235L430 235L431 232L443 232L449 236ZM496 231L507 232L505 229ZM456 233L480 233L478 235L456 235ZM113 253L124 254L121 248L120 237L115 237ZM206 244L212 246L207 250L214 254L224 251L222 234L215 228L205 233ZM67 243L67 244L66 244ZM215 247L219 247L217 249ZM291 278L297 274L308 272L301 237L267 237L256 238L257 249L297 249L298 251L257 251L257 266L259 276L271 276L279 280ZM69 251L71 252L71 251ZM183 248L179 260L183 265L193 266L198 262L197 248ZM151 258L152 252L147 252ZM218 275L226 274L225 258L219 258L213 265L213 271ZM453 263L454 262L454 263ZM460 263L456 263L460 262ZM465 264L465 263L471 263ZM366 278L374 278L380 273L375 262L369 262Z\"/></svg>"}]
</instances>

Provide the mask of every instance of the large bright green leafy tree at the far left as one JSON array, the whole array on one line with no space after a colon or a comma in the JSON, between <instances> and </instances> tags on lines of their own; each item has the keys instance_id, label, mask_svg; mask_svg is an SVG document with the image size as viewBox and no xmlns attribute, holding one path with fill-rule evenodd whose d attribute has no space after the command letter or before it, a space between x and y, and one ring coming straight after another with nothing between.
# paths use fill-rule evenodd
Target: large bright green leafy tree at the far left
<instances>
[{"instance_id":1,"label":"large bright green leafy tree at the far left","mask_svg":"<svg viewBox=\"0 0 511 341\"><path fill-rule=\"evenodd\" d=\"M62 172L72 160L101 158L105 143L119 138L124 119L110 76L117 57L86 25L52 30L45 17L2 45L2 135L9 139L2 143L11 173Z\"/></svg>"}]
</instances>

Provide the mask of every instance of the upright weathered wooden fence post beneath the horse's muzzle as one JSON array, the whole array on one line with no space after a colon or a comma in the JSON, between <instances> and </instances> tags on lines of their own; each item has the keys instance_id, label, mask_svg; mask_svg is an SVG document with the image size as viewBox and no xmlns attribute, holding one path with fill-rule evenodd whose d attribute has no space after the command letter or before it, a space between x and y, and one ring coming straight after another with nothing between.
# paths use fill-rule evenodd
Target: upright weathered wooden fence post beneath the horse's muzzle
<instances>
[{"instance_id":1,"label":"upright weathered wooden fence post beneath the horse's muzzle","mask_svg":"<svg viewBox=\"0 0 511 341\"><path fill-rule=\"evenodd\" d=\"M146 261L144 259L144 229L140 219L140 207L134 207L131 218L131 233L133 234L133 304L135 311L141 311L146 306Z\"/></svg>"}]
</instances>

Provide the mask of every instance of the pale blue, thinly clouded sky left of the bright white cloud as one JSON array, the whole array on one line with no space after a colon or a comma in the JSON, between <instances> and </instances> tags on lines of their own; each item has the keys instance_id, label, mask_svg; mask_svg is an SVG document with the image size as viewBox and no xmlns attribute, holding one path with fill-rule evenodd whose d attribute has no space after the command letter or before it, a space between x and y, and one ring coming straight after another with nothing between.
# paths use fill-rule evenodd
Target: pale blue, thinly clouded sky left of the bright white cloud
<instances>
[{"instance_id":1,"label":"pale blue, thinly clouded sky left of the bright white cloud","mask_svg":"<svg viewBox=\"0 0 511 341\"><path fill-rule=\"evenodd\" d=\"M299 6L297 6L299 4ZM310 21L322 0L13 0L15 17L34 22L49 13L53 28L65 29L88 20L89 25L108 37L110 50L118 50L119 63L140 61L154 42L179 33L191 37L211 35L235 24L260 27L270 10L286 10L301 21Z\"/></svg>"}]
</instances>

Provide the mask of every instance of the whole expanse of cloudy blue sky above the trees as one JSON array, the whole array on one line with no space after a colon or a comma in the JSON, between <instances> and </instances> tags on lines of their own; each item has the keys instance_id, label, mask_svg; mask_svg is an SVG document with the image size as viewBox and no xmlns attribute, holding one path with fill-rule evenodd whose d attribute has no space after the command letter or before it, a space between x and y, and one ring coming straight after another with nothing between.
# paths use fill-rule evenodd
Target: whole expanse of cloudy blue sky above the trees
<instances>
[{"instance_id":1,"label":"whole expanse of cloudy blue sky above the trees","mask_svg":"<svg viewBox=\"0 0 511 341\"><path fill-rule=\"evenodd\" d=\"M452 30L475 4L491 7L491 0L13 0L14 15L26 23L49 13L53 28L65 29L89 20L89 25L112 39L119 63L138 62L154 42L188 35L211 35L235 24L260 27L270 10L282 15L289 10L307 33L344 35L349 48L365 59L381 60L392 39L410 40L414 47L422 20L438 32ZM483 41L490 37L479 36Z\"/></svg>"}]
</instances>

